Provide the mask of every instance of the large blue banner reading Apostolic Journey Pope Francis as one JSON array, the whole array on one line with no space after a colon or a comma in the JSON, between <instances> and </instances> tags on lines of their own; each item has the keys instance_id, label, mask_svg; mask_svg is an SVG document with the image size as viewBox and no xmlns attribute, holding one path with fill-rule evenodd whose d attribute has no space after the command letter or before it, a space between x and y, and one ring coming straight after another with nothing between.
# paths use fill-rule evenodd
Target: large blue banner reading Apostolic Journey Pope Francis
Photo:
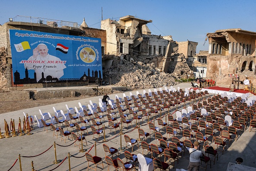
<instances>
[{"instance_id":1,"label":"large blue banner reading Apostolic Journey Pope Francis","mask_svg":"<svg viewBox=\"0 0 256 171\"><path fill-rule=\"evenodd\" d=\"M14 84L102 79L101 40L9 30Z\"/></svg>"}]
</instances>

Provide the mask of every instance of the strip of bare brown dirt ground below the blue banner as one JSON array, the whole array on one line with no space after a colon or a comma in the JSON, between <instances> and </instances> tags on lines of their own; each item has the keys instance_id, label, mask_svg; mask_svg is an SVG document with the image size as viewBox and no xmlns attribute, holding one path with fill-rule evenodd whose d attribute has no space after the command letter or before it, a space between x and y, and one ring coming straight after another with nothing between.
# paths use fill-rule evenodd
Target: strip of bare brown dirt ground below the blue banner
<instances>
[{"instance_id":1,"label":"strip of bare brown dirt ground below the blue banner","mask_svg":"<svg viewBox=\"0 0 256 171\"><path fill-rule=\"evenodd\" d=\"M86 97L65 97L61 99L37 99L37 100L8 100L0 101L0 114L16 110L28 109L32 107L45 106L54 103L69 102L73 100L84 99Z\"/></svg>"}]
</instances>

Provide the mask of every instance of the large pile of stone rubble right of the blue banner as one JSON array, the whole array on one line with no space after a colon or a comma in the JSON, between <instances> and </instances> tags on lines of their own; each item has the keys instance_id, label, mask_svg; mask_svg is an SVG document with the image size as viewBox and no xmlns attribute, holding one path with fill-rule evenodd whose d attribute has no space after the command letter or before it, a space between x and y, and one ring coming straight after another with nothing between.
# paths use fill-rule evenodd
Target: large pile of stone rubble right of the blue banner
<instances>
[{"instance_id":1,"label":"large pile of stone rubble right of the blue banner","mask_svg":"<svg viewBox=\"0 0 256 171\"><path fill-rule=\"evenodd\" d=\"M128 62L122 59L123 64L112 65L103 70L103 80L111 78L111 84L124 87L163 87L178 84L175 78L168 73L160 72L159 68L143 62Z\"/></svg>"}]
</instances>

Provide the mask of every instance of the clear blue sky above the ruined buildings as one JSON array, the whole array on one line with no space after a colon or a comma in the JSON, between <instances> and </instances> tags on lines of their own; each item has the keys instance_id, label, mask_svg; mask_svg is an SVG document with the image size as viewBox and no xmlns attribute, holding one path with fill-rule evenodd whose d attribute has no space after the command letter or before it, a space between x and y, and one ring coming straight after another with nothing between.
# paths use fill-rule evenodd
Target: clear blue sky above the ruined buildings
<instances>
[{"instance_id":1,"label":"clear blue sky above the ruined buildings","mask_svg":"<svg viewBox=\"0 0 256 171\"><path fill-rule=\"evenodd\" d=\"M206 33L220 29L241 28L256 32L255 0L5 0L1 2L0 24L15 16L56 19L100 28L103 19L119 20L137 16L153 20L152 34L172 35L175 41L198 42L199 50L208 50Z\"/></svg>"}]
</instances>

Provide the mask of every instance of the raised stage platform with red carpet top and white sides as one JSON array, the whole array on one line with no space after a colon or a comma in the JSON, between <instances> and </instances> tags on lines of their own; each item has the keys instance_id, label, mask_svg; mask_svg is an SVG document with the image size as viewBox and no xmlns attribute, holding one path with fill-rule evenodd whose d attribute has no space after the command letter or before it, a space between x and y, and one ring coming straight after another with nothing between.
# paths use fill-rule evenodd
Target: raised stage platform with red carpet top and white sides
<instances>
[{"instance_id":1,"label":"raised stage platform with red carpet top and white sides","mask_svg":"<svg viewBox=\"0 0 256 171\"><path fill-rule=\"evenodd\" d=\"M247 90L234 89L233 92L229 92L230 88L218 87L218 86L202 88L201 91L206 91L206 90L208 91L208 93L214 93L214 94L222 94L226 92L227 95L232 95L233 93L235 93L236 96L242 96L243 94L245 94L246 97L249 97L250 95L250 92Z\"/></svg>"}]
</instances>

